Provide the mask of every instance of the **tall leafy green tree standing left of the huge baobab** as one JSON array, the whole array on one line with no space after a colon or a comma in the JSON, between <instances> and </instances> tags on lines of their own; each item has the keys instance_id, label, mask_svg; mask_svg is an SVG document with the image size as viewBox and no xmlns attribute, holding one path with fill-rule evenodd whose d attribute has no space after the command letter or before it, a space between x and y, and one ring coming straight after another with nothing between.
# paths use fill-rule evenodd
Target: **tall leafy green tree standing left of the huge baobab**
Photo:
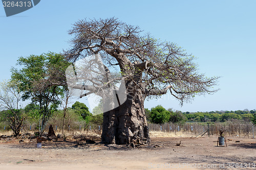
<instances>
[{"instance_id":1,"label":"tall leafy green tree standing left of the huge baobab","mask_svg":"<svg viewBox=\"0 0 256 170\"><path fill-rule=\"evenodd\" d=\"M12 68L12 80L19 82L23 100L39 105L39 133L42 134L54 110L60 105L59 96L65 90L65 70L69 63L62 55L47 53L20 57L20 69Z\"/></svg>"}]
</instances>

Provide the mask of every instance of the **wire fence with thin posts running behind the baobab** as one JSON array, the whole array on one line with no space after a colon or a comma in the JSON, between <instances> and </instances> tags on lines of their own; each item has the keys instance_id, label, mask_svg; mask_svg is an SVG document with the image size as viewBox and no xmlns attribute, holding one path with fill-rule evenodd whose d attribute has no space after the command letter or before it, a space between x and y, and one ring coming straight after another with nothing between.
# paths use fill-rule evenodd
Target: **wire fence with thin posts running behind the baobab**
<instances>
[{"instance_id":1,"label":"wire fence with thin posts running behind the baobab","mask_svg":"<svg viewBox=\"0 0 256 170\"><path fill-rule=\"evenodd\" d=\"M50 125L47 125L45 131L48 131ZM62 126L60 124L53 125L55 131L62 131ZM100 125L92 125L92 124L72 124L64 127L65 131L80 131L80 132L101 132L102 126ZM241 122L226 122L226 123L214 123L214 124L202 124L202 123L185 123L185 124L148 124L148 128L150 132L159 131L165 133L190 133L191 135L198 135L202 132L206 132L208 135L219 135L221 128L225 130L225 136L236 136L236 137L254 137L256 127L252 125L250 122L241 123ZM208 130L209 129L209 130ZM9 126L0 127L0 131L11 131ZM35 132L38 131L38 125L26 124L21 133L26 132ZM177 134L178 135L178 134Z\"/></svg>"}]
</instances>

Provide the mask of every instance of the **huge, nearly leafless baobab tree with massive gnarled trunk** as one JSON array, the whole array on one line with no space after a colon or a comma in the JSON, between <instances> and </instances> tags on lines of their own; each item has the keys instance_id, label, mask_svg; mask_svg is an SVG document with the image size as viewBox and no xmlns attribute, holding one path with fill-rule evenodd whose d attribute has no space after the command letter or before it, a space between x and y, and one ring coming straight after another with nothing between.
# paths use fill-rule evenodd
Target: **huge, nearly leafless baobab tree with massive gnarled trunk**
<instances>
[{"instance_id":1,"label":"huge, nearly leafless baobab tree with massive gnarled trunk","mask_svg":"<svg viewBox=\"0 0 256 170\"><path fill-rule=\"evenodd\" d=\"M103 113L101 140L104 143L150 143L145 99L170 92L182 105L196 94L217 91L212 87L218 77L207 78L199 74L194 56L173 42L160 41L150 33L143 34L138 26L128 25L117 18L84 19L77 21L69 34L74 37L71 49L65 52L66 59L75 62L99 54L106 72L104 83L95 86L91 80L93 85L86 86L84 95L100 94L112 86L116 90L117 79L110 74L113 70L120 72L123 80L126 100ZM74 88L84 87L77 85ZM103 98L103 107L108 105L112 103Z\"/></svg>"}]
</instances>

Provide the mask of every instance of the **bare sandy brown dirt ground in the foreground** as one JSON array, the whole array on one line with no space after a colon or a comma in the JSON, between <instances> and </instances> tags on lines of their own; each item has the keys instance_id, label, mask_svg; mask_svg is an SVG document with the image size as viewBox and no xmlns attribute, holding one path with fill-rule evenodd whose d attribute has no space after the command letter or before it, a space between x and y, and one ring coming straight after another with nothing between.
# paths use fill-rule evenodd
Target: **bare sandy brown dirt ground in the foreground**
<instances>
[{"instance_id":1,"label":"bare sandy brown dirt ground in the foreground","mask_svg":"<svg viewBox=\"0 0 256 170\"><path fill-rule=\"evenodd\" d=\"M0 169L256 169L256 139L217 136L151 137L150 145L95 144L74 140L0 140ZM236 142L236 141L240 142ZM181 141L180 146L176 143Z\"/></svg>"}]
</instances>

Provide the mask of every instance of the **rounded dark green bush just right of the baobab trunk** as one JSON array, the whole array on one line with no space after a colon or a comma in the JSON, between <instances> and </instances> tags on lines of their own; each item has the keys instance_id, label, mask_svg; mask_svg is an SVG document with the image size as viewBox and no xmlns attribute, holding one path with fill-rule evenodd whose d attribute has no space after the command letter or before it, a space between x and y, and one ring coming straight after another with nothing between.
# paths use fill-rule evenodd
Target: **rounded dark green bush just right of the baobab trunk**
<instances>
[{"instance_id":1,"label":"rounded dark green bush just right of the baobab trunk","mask_svg":"<svg viewBox=\"0 0 256 170\"><path fill-rule=\"evenodd\" d=\"M163 124L169 121L170 112L158 105L151 109L150 118L154 124Z\"/></svg>"}]
</instances>

